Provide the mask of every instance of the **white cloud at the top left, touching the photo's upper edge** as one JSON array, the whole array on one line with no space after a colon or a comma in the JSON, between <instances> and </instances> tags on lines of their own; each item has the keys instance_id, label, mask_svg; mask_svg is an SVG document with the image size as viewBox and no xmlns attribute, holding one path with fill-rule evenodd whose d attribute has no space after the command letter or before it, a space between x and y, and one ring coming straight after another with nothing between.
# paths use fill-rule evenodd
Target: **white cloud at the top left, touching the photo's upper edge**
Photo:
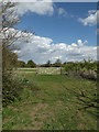
<instances>
[{"instance_id":1,"label":"white cloud at the top left, touching the photo's upper edge","mask_svg":"<svg viewBox=\"0 0 99 132\"><path fill-rule=\"evenodd\" d=\"M28 11L37 13L41 15L48 14L52 15L54 12L53 2L20 2L18 4L18 14L23 15Z\"/></svg>"}]
</instances>

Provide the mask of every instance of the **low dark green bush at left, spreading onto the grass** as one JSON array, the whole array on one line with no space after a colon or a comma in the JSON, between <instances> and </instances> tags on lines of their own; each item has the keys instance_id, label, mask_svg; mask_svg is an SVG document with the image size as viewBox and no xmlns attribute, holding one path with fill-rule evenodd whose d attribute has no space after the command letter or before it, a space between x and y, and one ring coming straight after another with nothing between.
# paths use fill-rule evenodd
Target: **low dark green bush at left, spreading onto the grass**
<instances>
[{"instance_id":1,"label":"low dark green bush at left, spreading onto the grass","mask_svg":"<svg viewBox=\"0 0 99 132\"><path fill-rule=\"evenodd\" d=\"M12 76L12 73L4 74L2 76L2 105L7 107L16 100L23 100L23 97L28 99L30 97L29 92L40 90L36 82L30 82L29 79L22 77L16 78ZM25 90L30 89L30 90ZM23 91L24 95L22 96Z\"/></svg>"}]
</instances>

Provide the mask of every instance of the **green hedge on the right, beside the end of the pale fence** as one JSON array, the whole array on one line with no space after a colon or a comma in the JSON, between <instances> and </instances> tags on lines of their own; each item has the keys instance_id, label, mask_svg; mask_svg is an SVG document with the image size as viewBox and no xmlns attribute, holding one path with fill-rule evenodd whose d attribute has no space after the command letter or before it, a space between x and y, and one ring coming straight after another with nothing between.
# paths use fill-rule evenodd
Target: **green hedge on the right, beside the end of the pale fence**
<instances>
[{"instance_id":1,"label":"green hedge on the right, beside the end of the pale fence","mask_svg":"<svg viewBox=\"0 0 99 132\"><path fill-rule=\"evenodd\" d=\"M85 78L97 79L97 65L98 62L91 62L84 59L79 63L69 63L65 65L65 72L67 75L77 75Z\"/></svg>"}]
</instances>

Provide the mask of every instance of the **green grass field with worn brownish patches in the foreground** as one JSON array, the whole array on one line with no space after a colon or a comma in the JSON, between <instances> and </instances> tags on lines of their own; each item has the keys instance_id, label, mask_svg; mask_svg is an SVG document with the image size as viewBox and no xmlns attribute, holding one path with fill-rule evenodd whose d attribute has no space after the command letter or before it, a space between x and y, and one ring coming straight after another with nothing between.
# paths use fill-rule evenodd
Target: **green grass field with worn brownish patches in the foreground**
<instances>
[{"instance_id":1,"label":"green grass field with worn brownish patches in the foreground","mask_svg":"<svg viewBox=\"0 0 99 132\"><path fill-rule=\"evenodd\" d=\"M30 88L37 85L40 90L24 88L21 101L3 108L3 130L97 130L96 109L78 110L84 102L75 94L84 90L91 97L97 92L96 81L61 75L22 77Z\"/></svg>"}]
</instances>

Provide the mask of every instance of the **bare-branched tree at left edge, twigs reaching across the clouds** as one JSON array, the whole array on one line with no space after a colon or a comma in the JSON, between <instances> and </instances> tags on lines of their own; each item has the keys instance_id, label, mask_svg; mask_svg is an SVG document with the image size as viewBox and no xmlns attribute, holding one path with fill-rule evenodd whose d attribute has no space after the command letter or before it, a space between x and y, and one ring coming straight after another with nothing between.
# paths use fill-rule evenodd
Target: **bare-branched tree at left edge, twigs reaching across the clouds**
<instances>
[{"instance_id":1,"label":"bare-branched tree at left edge, twigs reaching across the clouds","mask_svg":"<svg viewBox=\"0 0 99 132\"><path fill-rule=\"evenodd\" d=\"M13 25L20 22L20 18L16 14L16 6L18 3L13 3L11 1L2 3L2 29L0 30L0 35L2 38L2 65L3 72L8 69L8 67L12 63L12 58L16 59L16 56L13 54L14 51L19 51L20 48L16 46L16 42L26 42L32 35L32 33L28 33L26 30L19 31L14 29ZM13 59L14 59L13 58ZM16 63L16 61L15 61ZM14 65L15 66L15 65Z\"/></svg>"}]
</instances>

